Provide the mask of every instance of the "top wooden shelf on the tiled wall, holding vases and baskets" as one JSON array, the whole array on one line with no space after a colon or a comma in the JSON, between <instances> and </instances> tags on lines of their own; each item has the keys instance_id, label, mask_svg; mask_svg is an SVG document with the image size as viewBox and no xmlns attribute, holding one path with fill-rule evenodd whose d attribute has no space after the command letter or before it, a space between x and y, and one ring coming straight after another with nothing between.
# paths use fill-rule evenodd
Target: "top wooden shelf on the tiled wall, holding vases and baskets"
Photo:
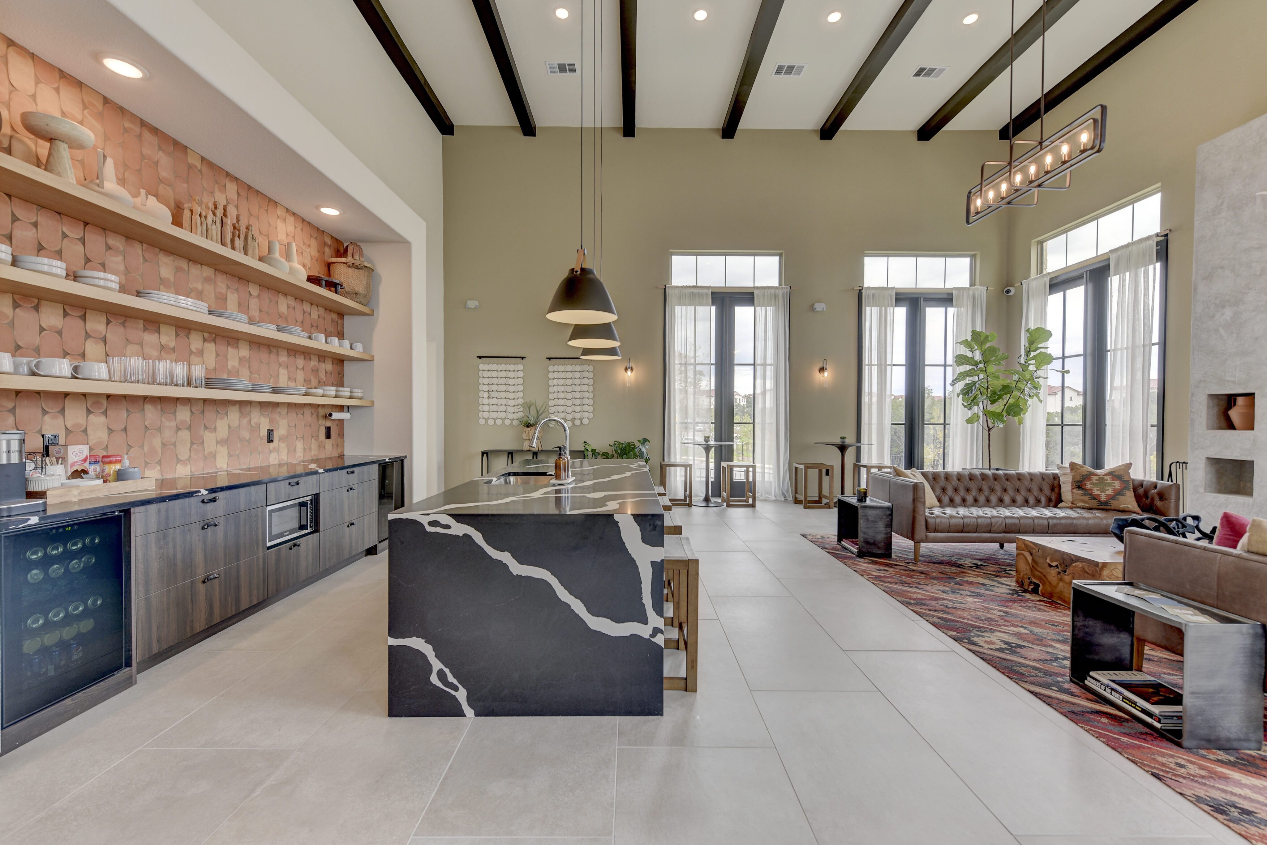
<instances>
[{"instance_id":1,"label":"top wooden shelf on the tiled wall, holding vases and baskets","mask_svg":"<svg viewBox=\"0 0 1267 845\"><path fill-rule=\"evenodd\" d=\"M233 252L179 226L161 223L13 156L0 155L0 191L340 314L374 313L372 308L299 281L255 257Z\"/></svg>"}]
</instances>

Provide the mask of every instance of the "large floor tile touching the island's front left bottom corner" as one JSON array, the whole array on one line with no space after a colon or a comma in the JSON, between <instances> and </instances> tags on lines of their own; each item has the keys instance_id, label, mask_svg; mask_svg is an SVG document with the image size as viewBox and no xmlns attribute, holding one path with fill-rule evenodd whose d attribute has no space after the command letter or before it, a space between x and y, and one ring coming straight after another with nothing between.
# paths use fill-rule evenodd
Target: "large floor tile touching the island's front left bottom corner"
<instances>
[{"instance_id":1,"label":"large floor tile touching the island's front left bottom corner","mask_svg":"<svg viewBox=\"0 0 1267 845\"><path fill-rule=\"evenodd\" d=\"M388 718L385 692L359 692L208 845L403 842L470 723Z\"/></svg>"}]
</instances>

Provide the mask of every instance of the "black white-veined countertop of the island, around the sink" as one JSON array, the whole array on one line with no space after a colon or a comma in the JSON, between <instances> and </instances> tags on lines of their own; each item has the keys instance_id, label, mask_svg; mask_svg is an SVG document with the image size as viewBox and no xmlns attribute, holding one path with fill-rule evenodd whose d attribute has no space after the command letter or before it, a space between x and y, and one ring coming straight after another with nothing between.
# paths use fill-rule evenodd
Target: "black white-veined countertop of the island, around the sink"
<instances>
[{"instance_id":1,"label":"black white-veined countertop of the island, around the sink","mask_svg":"<svg viewBox=\"0 0 1267 845\"><path fill-rule=\"evenodd\" d=\"M547 484L489 484L507 473L554 474L554 459L525 460L497 473L449 488L394 512L389 518L426 513L664 513L651 473L642 461L579 460L571 462L576 479L568 486Z\"/></svg>"}]
</instances>

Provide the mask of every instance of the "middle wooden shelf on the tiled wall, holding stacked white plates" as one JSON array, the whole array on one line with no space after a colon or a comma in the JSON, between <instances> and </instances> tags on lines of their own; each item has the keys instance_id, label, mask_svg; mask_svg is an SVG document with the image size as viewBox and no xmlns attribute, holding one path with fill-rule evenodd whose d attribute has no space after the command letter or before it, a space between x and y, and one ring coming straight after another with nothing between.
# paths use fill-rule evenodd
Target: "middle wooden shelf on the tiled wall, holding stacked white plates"
<instances>
[{"instance_id":1,"label":"middle wooden shelf on the tiled wall, holding stacked white plates","mask_svg":"<svg viewBox=\"0 0 1267 845\"><path fill-rule=\"evenodd\" d=\"M284 350L295 350L308 355L322 355L345 361L372 361L369 352L353 352L329 343L305 341L284 332L275 332L271 328L257 328L247 323L236 323L223 317L212 317L190 308L177 308L163 303L150 302L131 294L114 293L105 288L95 288L79 281L68 281L46 272L34 270L22 270L0 265L0 291L30 296L33 299L46 299L61 303L62 305L77 305L91 308L108 314L120 317L136 317L151 323L166 323L167 326L180 326L208 332L218 337L234 337L252 343L265 346L277 346Z\"/></svg>"}]
</instances>

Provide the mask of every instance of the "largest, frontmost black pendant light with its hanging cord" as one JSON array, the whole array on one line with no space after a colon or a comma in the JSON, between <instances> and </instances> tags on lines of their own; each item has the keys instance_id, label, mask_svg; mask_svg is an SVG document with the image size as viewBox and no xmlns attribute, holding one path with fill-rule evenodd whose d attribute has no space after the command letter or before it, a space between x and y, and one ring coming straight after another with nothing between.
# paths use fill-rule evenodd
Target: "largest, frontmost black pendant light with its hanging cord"
<instances>
[{"instance_id":1,"label":"largest, frontmost black pendant light with its hanging cord","mask_svg":"<svg viewBox=\"0 0 1267 845\"><path fill-rule=\"evenodd\" d=\"M594 58L599 60L598 47L602 43L599 39L598 30L598 15L595 6L594 15ZM584 245L585 236L585 3L582 0L580 4L580 233L582 245ZM595 72L601 71L602 62L594 62ZM594 114L602 115L602 77L598 76L598 85L592 86L595 98ZM598 127L598 120L592 130L592 139L598 138L601 141L602 132ZM597 170L597 156L594 157L595 170ZM597 194L598 177L593 179L593 187ZM594 215L594 226L592 234L594 239L598 239L598 198L597 195L592 198L590 212ZM555 290L554 299L550 300L550 308L546 309L546 319L552 319L556 323L571 323L574 326L598 326L601 323L611 323L616 319L616 304L612 302L611 294L607 293L607 286L603 284L598 274L594 272L592 267L585 266L585 248L582 246L576 250L576 266L573 267L563 281L559 283L557 290ZM573 337L579 337L573 331ZM606 337L606 336L599 336ZM620 341L616 338L616 332L612 331L611 341L614 346ZM584 343L573 343L573 346L584 346ZM606 346L606 343L604 343Z\"/></svg>"}]
</instances>

